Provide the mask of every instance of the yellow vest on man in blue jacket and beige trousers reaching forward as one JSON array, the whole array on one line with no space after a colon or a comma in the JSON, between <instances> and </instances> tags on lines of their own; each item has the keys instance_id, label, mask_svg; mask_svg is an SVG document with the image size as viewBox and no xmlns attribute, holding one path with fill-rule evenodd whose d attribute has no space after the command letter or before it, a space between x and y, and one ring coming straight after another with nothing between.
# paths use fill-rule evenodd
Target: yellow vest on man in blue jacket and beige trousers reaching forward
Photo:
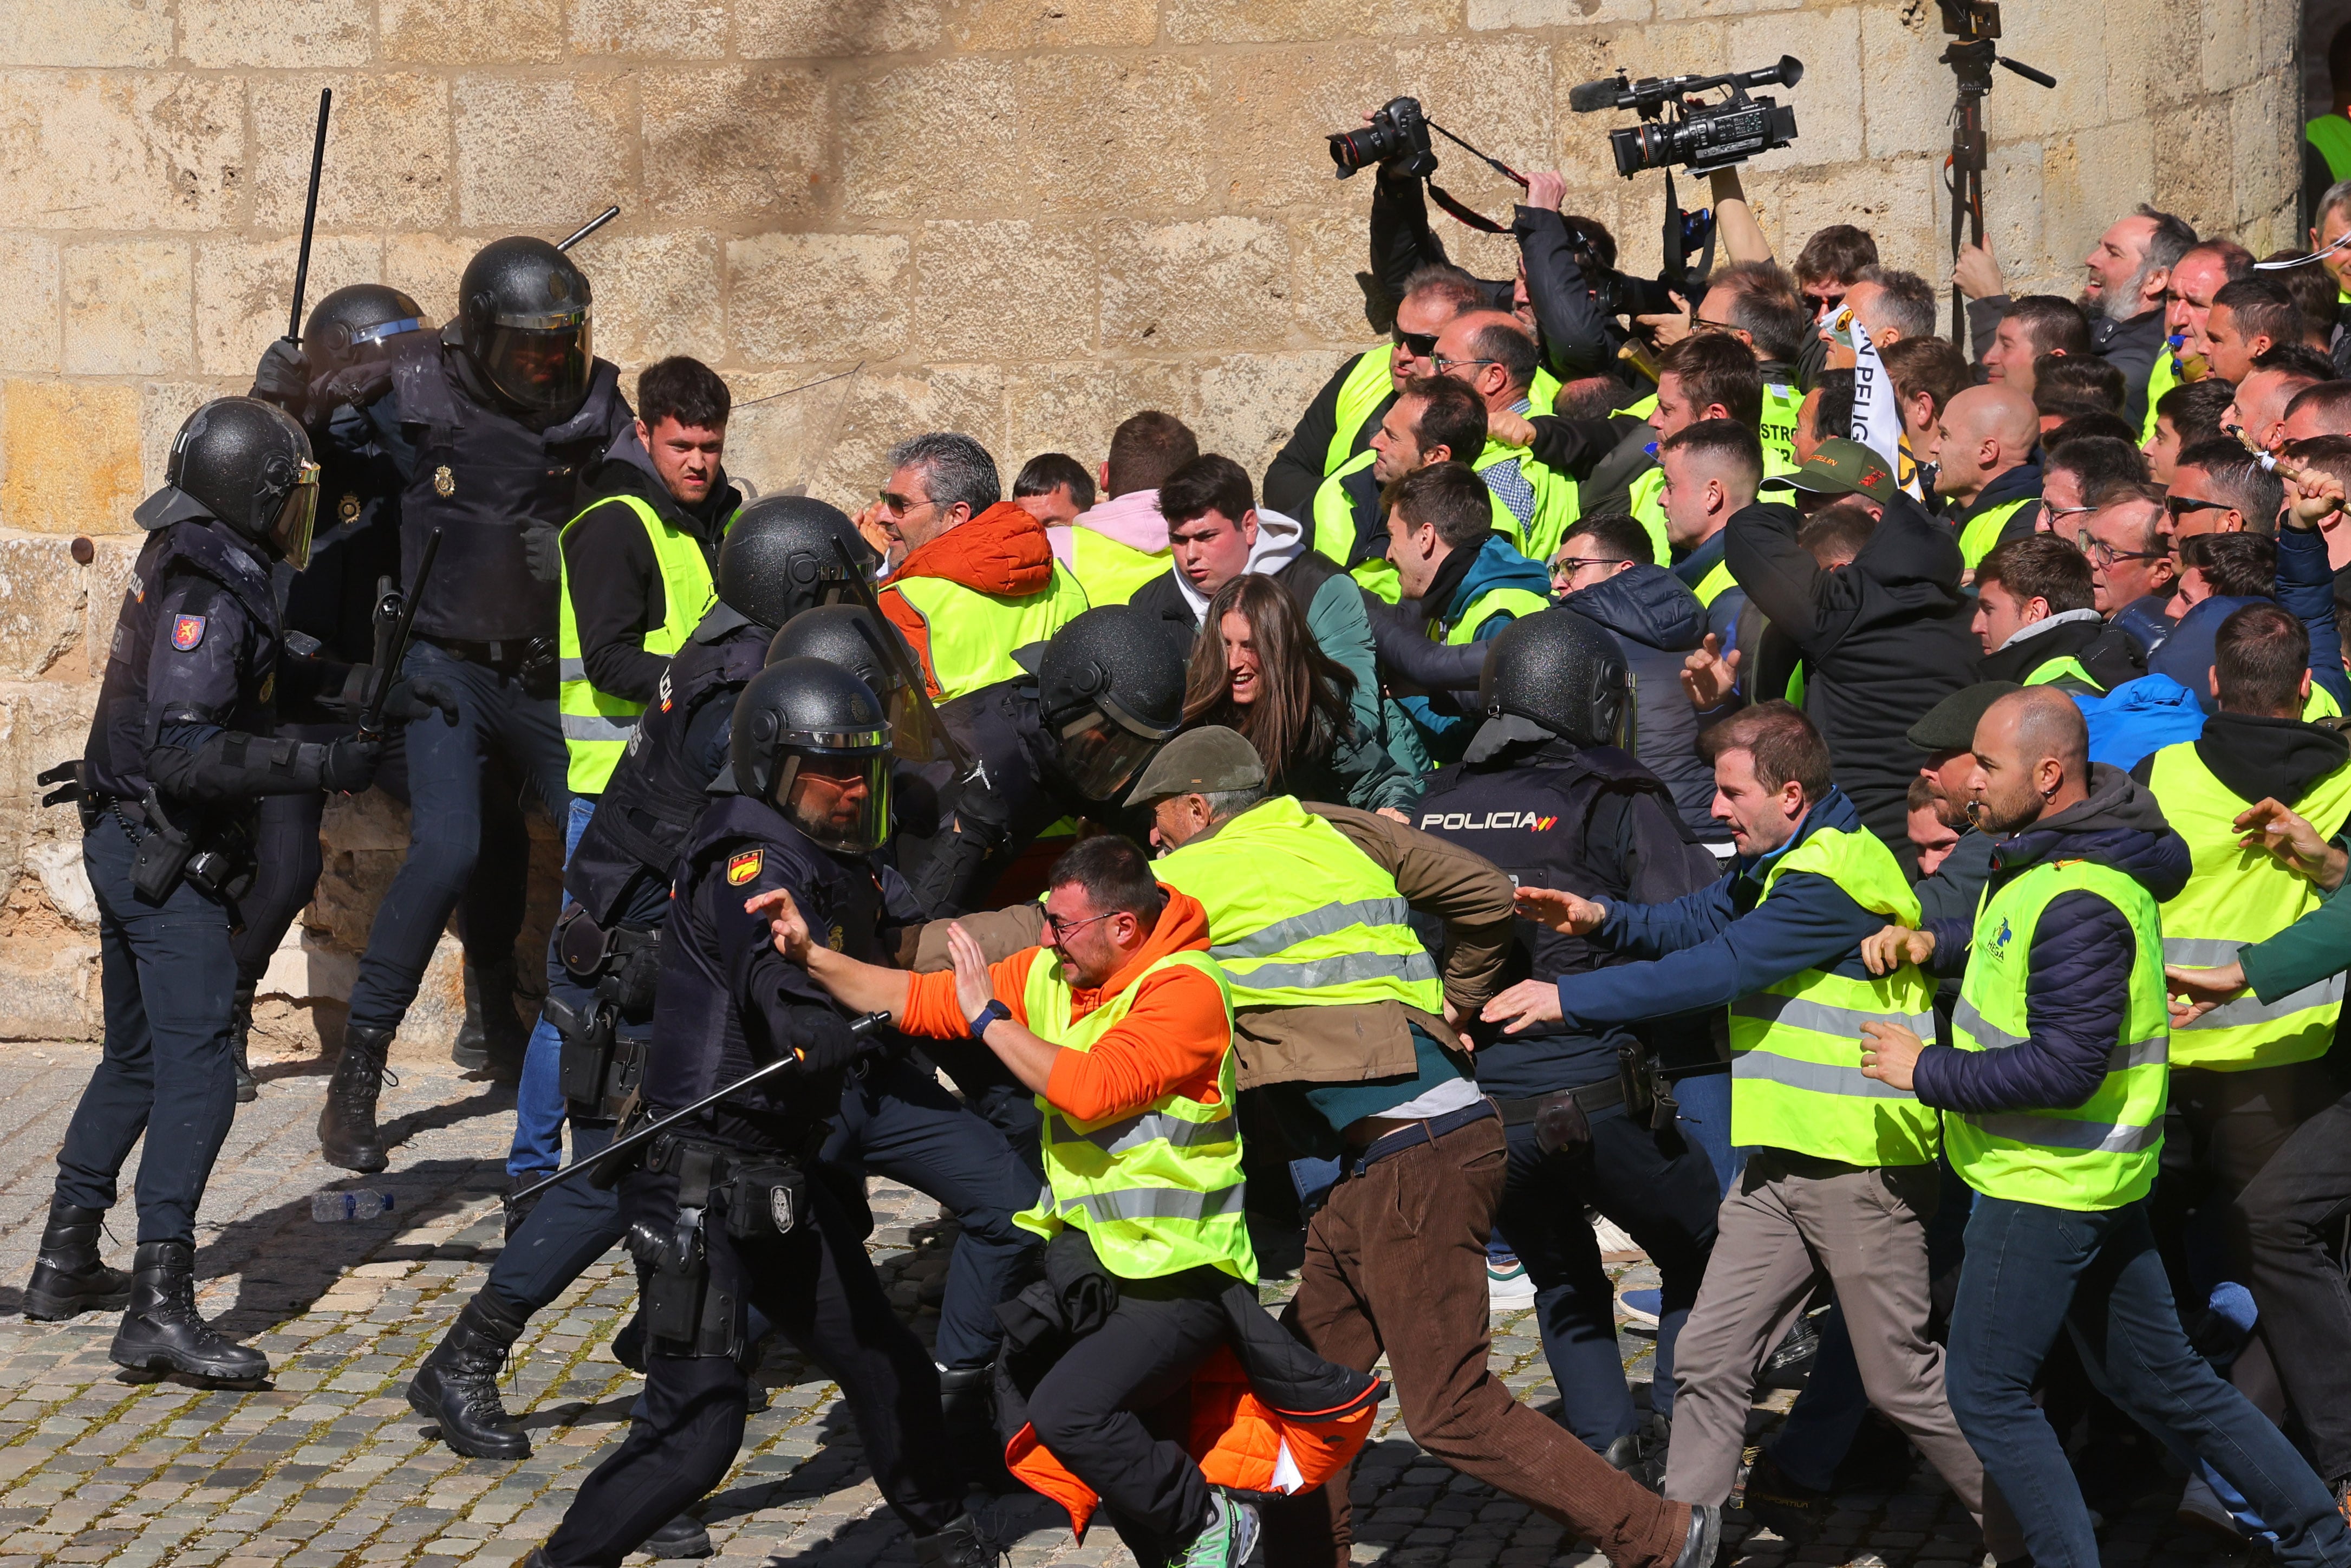
<instances>
[{"instance_id":1,"label":"yellow vest on man in blue jacket and beige trousers reaching forward","mask_svg":"<svg viewBox=\"0 0 2351 1568\"><path fill-rule=\"evenodd\" d=\"M1918 896L1893 851L1857 827L1822 827L1780 856L1763 898L1787 872L1834 882L1853 903L1916 926ZM1853 1166L1935 1159L1935 1112L1907 1088L1862 1077L1862 1025L1900 1023L1935 1039L1935 985L1916 969L1855 980L1803 969L1730 1004L1730 1138Z\"/></svg>"}]
</instances>

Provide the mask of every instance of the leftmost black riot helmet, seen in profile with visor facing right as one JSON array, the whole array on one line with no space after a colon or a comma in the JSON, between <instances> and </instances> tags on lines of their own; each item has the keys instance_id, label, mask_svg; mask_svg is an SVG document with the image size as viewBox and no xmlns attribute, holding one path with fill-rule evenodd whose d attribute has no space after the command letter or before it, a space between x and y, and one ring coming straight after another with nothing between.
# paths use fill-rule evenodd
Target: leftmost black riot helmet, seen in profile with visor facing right
<instances>
[{"instance_id":1,"label":"leftmost black riot helmet, seen in profile with visor facing right","mask_svg":"<svg viewBox=\"0 0 2351 1568\"><path fill-rule=\"evenodd\" d=\"M289 562L310 564L317 522L317 463L301 423L259 397L214 397L172 437L165 487L139 503L141 529L219 517L240 538Z\"/></svg>"}]
</instances>

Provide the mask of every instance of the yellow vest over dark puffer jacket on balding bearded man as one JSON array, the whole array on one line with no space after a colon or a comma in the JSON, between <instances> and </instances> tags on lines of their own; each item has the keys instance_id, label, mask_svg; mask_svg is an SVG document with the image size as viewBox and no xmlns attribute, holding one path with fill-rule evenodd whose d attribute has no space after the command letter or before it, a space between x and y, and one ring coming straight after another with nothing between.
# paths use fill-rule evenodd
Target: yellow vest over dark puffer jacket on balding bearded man
<instances>
[{"instance_id":1,"label":"yellow vest over dark puffer jacket on balding bearded man","mask_svg":"<svg viewBox=\"0 0 2351 1568\"><path fill-rule=\"evenodd\" d=\"M2154 896L2092 860L2048 860L1998 893L1987 891L1951 1013L1951 1044L1961 1051L2024 1044L2034 931L2050 900L2074 891L2097 893L2130 922L2123 1030L2106 1056L2106 1077L2071 1107L1951 1112L1942 1143L1951 1168L1987 1197L2104 1211L2146 1197L2163 1147L2170 1013L2163 1004L2163 917Z\"/></svg>"}]
</instances>

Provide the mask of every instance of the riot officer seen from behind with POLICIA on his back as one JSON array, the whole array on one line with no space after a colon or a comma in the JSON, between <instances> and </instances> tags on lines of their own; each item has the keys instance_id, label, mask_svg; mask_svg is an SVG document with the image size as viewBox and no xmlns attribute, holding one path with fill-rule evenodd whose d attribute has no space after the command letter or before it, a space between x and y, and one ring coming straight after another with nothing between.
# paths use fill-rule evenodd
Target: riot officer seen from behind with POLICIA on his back
<instances>
[{"instance_id":1,"label":"riot officer seen from behind with POLICIA on his back","mask_svg":"<svg viewBox=\"0 0 2351 1568\"><path fill-rule=\"evenodd\" d=\"M1714 856L1674 797L1632 757L1625 651L1573 609L1547 609L1491 644L1479 679L1486 722L1467 759L1439 771L1415 806L1425 832L1474 849L1521 889L1667 903L1716 879ZM1519 919L1512 973L1556 978L1610 961L1582 938ZM1716 1182L1683 1143L1662 1072L1716 1067L1702 1025L1657 1030L1533 1027L1481 1039L1476 1081L1502 1107L1509 1166L1495 1229L1535 1281L1535 1319L1568 1427L1620 1465L1639 1458L1632 1394L1615 1342L1615 1291L1585 1208L1622 1225L1665 1276L1657 1375L1672 1396L1674 1335L1714 1251ZM1627 1441L1632 1439L1632 1441Z\"/></svg>"}]
</instances>

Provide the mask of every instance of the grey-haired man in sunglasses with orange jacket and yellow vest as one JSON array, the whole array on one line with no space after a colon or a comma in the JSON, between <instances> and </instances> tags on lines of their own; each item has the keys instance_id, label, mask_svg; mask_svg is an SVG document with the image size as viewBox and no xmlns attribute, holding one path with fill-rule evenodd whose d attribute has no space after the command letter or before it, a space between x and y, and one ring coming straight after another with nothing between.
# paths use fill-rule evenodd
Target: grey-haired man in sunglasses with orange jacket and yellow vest
<instances>
[{"instance_id":1,"label":"grey-haired man in sunglasses with orange jacket and yellow vest","mask_svg":"<svg viewBox=\"0 0 2351 1568\"><path fill-rule=\"evenodd\" d=\"M1044 524L1004 501L997 461L969 435L933 430L891 447L872 520L891 552L903 550L882 614L915 646L936 703L1018 677L1020 649L1086 609Z\"/></svg>"}]
</instances>

